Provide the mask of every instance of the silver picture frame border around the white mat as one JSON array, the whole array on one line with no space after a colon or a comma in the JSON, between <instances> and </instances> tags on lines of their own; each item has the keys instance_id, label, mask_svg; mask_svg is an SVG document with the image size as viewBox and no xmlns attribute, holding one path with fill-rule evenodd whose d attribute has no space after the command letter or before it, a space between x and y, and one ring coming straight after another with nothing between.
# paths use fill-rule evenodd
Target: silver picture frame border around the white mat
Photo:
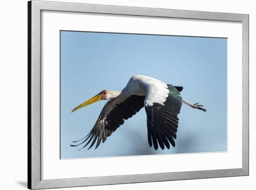
<instances>
[{"instance_id":1,"label":"silver picture frame border around the white mat","mask_svg":"<svg viewBox=\"0 0 256 190\"><path fill-rule=\"evenodd\" d=\"M242 113L242 168L200 170L188 172L151 173L108 177L81 177L68 179L41 179L41 11L104 13L148 17L241 22L243 28L243 113ZM211 177L249 175L249 15L159 8L123 7L32 0L28 2L28 188L49 189L121 183L143 183Z\"/></svg>"}]
</instances>

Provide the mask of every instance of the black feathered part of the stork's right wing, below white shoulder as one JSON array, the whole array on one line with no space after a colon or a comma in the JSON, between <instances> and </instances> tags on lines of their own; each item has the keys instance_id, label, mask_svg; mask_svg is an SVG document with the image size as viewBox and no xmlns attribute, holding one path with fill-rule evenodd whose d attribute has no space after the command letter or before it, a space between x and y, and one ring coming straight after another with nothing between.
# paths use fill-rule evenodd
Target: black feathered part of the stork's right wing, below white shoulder
<instances>
[{"instance_id":1,"label":"black feathered part of the stork's right wing, below white shoulder","mask_svg":"<svg viewBox=\"0 0 256 190\"><path fill-rule=\"evenodd\" d=\"M151 147L152 141L155 150L158 144L162 149L170 144L175 147L176 132L178 127L178 114L182 107L180 91L182 87L168 85L169 94L164 105L154 103L152 106L145 106L147 113L148 144ZM170 144L169 144L170 143Z\"/></svg>"}]
</instances>

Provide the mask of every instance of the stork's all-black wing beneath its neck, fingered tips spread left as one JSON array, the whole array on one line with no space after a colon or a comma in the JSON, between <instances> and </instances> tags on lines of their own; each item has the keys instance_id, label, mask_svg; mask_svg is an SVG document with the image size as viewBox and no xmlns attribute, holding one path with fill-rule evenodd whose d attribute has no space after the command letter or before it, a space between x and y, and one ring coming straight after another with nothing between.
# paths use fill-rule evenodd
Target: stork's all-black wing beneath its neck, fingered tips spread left
<instances>
[{"instance_id":1,"label":"stork's all-black wing beneath its neck, fingered tips spread left","mask_svg":"<svg viewBox=\"0 0 256 190\"><path fill-rule=\"evenodd\" d=\"M144 106L145 96L132 95L127 98L115 98L110 99L103 107L99 118L97 119L93 129L89 134L79 141L81 142L76 145L86 143L82 148L86 147L90 142L90 149L97 140L95 149L102 143L105 142L108 136L110 136L124 121L135 115ZM86 142L87 141L87 142ZM81 149L82 149L81 148ZM81 150L80 149L80 150Z\"/></svg>"}]
</instances>

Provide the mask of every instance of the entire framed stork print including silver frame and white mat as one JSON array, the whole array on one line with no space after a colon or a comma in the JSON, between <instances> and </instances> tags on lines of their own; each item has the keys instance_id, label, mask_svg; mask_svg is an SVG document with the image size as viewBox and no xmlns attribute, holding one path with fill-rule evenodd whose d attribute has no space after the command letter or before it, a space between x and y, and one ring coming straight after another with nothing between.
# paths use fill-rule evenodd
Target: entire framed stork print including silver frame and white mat
<instances>
[{"instance_id":1,"label":"entire framed stork print including silver frame and white mat","mask_svg":"<svg viewBox=\"0 0 256 190\"><path fill-rule=\"evenodd\" d=\"M249 175L249 15L28 2L28 188Z\"/></svg>"}]
</instances>

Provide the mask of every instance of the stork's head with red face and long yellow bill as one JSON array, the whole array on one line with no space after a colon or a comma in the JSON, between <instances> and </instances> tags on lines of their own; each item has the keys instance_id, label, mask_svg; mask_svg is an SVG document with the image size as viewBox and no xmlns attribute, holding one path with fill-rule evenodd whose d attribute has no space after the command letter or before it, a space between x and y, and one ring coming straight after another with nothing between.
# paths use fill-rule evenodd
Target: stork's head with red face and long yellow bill
<instances>
[{"instance_id":1,"label":"stork's head with red face and long yellow bill","mask_svg":"<svg viewBox=\"0 0 256 190\"><path fill-rule=\"evenodd\" d=\"M75 107L74 110L72 110L71 112L74 112L74 111L76 111L76 110L78 110L78 109L80 109L84 106L93 104L93 103L98 102L98 101L103 100L103 99L114 98L113 92L115 92L115 91L103 90L100 93L98 93L97 95L95 95L93 98L90 98L86 102L84 102L81 105L78 105L77 107Z\"/></svg>"}]
</instances>

